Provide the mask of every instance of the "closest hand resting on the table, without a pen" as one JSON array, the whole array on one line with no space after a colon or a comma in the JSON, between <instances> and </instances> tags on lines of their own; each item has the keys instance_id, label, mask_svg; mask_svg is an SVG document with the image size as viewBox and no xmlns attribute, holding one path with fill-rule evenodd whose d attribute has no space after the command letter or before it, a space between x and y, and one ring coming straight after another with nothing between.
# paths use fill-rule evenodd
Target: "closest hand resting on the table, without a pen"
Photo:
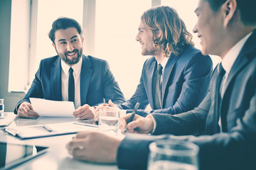
<instances>
[{"instance_id":1,"label":"closest hand resting on the table, without a pen","mask_svg":"<svg viewBox=\"0 0 256 170\"><path fill-rule=\"evenodd\" d=\"M102 132L80 132L66 146L75 159L115 163L121 139Z\"/></svg>"}]
</instances>

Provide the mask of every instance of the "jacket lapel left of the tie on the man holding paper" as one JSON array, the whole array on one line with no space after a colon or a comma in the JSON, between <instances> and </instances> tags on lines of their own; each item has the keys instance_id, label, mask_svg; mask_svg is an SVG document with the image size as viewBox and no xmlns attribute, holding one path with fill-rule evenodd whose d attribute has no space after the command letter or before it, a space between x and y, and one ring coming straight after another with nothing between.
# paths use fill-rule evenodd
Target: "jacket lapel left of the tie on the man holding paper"
<instances>
[{"instance_id":1,"label":"jacket lapel left of the tie on the man holding paper","mask_svg":"<svg viewBox=\"0 0 256 170\"><path fill-rule=\"evenodd\" d=\"M55 98L56 101L62 101L60 57L58 57L54 66L50 69L50 83L53 89L53 98Z\"/></svg>"}]
</instances>

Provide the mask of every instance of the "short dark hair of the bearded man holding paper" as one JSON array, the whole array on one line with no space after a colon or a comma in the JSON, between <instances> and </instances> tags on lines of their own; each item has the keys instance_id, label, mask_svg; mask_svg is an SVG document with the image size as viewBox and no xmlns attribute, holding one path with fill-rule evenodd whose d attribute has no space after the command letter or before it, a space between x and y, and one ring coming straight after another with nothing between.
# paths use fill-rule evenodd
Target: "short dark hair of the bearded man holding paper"
<instances>
[{"instance_id":1,"label":"short dark hair of the bearded man holding paper","mask_svg":"<svg viewBox=\"0 0 256 170\"><path fill-rule=\"evenodd\" d=\"M72 18L60 17L53 22L52 28L48 33L50 40L55 44L55 31L61 29L65 30L67 28L76 28L78 30L78 33L82 35L82 28L78 21L75 21Z\"/></svg>"}]
</instances>

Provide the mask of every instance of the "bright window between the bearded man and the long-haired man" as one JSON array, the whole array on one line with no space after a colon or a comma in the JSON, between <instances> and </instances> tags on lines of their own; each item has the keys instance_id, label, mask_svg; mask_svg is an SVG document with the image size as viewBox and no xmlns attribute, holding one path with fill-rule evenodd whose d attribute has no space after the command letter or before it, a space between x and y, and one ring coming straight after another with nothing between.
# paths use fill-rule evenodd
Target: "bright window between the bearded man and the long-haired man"
<instances>
[{"instance_id":1,"label":"bright window between the bearded man and the long-haired man","mask_svg":"<svg viewBox=\"0 0 256 170\"><path fill-rule=\"evenodd\" d=\"M107 6L107 8L106 8ZM142 13L149 0L97 0L95 57L107 60L124 96L129 99L139 84L143 63L141 45L135 40Z\"/></svg>"}]
</instances>

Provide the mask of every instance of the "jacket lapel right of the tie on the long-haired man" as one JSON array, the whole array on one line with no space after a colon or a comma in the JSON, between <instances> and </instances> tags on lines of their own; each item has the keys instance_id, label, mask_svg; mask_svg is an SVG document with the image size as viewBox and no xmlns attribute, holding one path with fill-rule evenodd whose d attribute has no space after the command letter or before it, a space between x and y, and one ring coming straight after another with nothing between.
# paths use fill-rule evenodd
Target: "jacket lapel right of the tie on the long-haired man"
<instances>
[{"instance_id":1,"label":"jacket lapel right of the tie on the long-haired man","mask_svg":"<svg viewBox=\"0 0 256 170\"><path fill-rule=\"evenodd\" d=\"M171 53L168 62L166 63L166 67L164 68L164 75L163 75L163 82L162 82L162 91L161 91L161 102L162 102L162 106L164 108L164 96L166 93L166 86L167 83L169 81L169 77L171 75L171 71L174 68L174 65L176 64L176 62L178 61L179 56L174 55L173 53Z\"/></svg>"}]
</instances>

